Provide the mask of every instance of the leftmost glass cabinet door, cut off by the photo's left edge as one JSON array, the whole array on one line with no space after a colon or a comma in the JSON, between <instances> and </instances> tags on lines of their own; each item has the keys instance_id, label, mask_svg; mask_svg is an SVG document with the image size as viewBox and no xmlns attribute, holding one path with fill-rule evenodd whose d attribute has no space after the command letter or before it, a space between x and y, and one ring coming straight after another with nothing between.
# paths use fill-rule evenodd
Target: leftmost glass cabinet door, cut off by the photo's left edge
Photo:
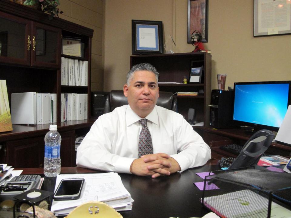
<instances>
[{"instance_id":1,"label":"leftmost glass cabinet door, cut off by the photo's left edge","mask_svg":"<svg viewBox=\"0 0 291 218\"><path fill-rule=\"evenodd\" d=\"M0 62L30 64L31 21L0 12Z\"/></svg>"}]
</instances>

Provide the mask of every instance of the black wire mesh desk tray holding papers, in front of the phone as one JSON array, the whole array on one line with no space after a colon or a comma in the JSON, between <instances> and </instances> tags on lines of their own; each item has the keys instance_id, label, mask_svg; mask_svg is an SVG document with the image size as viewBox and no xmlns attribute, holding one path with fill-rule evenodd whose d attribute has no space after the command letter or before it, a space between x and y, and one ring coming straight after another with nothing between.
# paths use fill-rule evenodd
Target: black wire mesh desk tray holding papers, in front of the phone
<instances>
[{"instance_id":1,"label":"black wire mesh desk tray holding papers, in front of the phone","mask_svg":"<svg viewBox=\"0 0 291 218\"><path fill-rule=\"evenodd\" d=\"M291 216L291 174L258 169L214 171L205 177L202 205L220 217ZM276 217L277 217L276 216Z\"/></svg>"}]
</instances>

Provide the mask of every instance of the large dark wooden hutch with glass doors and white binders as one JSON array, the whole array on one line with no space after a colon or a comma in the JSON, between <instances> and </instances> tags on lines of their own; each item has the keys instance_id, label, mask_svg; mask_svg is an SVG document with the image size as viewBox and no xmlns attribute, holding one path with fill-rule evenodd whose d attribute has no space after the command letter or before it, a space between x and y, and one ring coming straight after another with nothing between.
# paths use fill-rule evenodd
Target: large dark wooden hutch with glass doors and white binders
<instances>
[{"instance_id":1,"label":"large dark wooden hutch with glass doors and white binders","mask_svg":"<svg viewBox=\"0 0 291 218\"><path fill-rule=\"evenodd\" d=\"M81 38L83 57L88 61L88 86L61 85L62 36ZM60 18L49 20L41 11L0 1L0 79L6 80L11 109L11 93L57 94L58 131L62 136L62 167L75 166L75 136L86 134L95 120L91 118L90 69L93 30ZM88 94L88 119L61 122L61 93ZM13 167L42 167L44 137L49 124L13 125L0 133L0 162Z\"/></svg>"}]
</instances>

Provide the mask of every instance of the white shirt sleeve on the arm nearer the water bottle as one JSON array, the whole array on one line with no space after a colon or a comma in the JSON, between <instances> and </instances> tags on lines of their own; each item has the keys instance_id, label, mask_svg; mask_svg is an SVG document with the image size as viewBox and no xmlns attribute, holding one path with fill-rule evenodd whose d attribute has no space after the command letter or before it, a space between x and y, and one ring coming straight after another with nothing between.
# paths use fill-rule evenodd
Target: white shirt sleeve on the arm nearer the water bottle
<instances>
[{"instance_id":1,"label":"white shirt sleeve on the arm nearer the water bottle","mask_svg":"<svg viewBox=\"0 0 291 218\"><path fill-rule=\"evenodd\" d=\"M100 116L86 134L77 149L76 164L97 170L130 173L130 165L134 158L121 157L111 153L112 139L116 124L106 116Z\"/></svg>"}]
</instances>

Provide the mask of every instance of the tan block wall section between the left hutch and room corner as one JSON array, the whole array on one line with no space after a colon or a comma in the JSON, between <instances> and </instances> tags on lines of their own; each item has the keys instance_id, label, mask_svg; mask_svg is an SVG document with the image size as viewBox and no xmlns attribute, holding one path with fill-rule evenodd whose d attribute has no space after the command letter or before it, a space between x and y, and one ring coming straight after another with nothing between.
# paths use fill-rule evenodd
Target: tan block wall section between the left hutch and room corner
<instances>
[{"instance_id":1,"label":"tan block wall section between the left hutch and room corner","mask_svg":"<svg viewBox=\"0 0 291 218\"><path fill-rule=\"evenodd\" d=\"M92 38L91 91L103 90L102 0L60 0L59 17L94 30Z\"/></svg>"}]
</instances>

